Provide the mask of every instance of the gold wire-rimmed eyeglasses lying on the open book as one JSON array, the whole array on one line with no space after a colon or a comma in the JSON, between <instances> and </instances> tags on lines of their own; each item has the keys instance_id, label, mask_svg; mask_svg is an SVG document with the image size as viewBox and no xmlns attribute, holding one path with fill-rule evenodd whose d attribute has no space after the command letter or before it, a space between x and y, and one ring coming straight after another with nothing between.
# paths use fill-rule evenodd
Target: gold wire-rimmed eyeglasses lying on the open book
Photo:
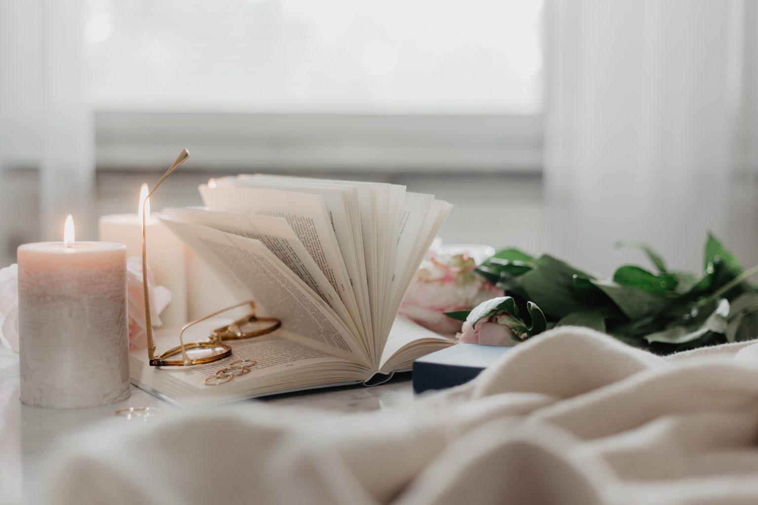
<instances>
[{"instance_id":1,"label":"gold wire-rimmed eyeglasses lying on the open book","mask_svg":"<svg viewBox=\"0 0 758 505\"><path fill-rule=\"evenodd\" d=\"M143 201L142 204L142 225L143 225L143 295L144 295L144 301L145 301L145 326L146 326L146 332L147 332L147 356L150 363L150 366L191 366L191 365L202 365L204 363L212 363L217 360L224 359L225 357L228 357L232 354L232 348L224 344L223 341L225 340L239 340L241 338L253 338L253 337L259 337L261 335L266 335L268 333L273 332L274 330L280 328L281 321L275 319L274 317L258 317L255 315L255 302L252 300L249 301L243 301L240 304L232 305L231 307L226 307L221 310L217 310L214 313L210 313L207 316L201 317L199 320L194 320L190 323L187 323L186 325L182 326L182 329L180 329L179 332L179 345L177 345L174 348L168 349L168 351L161 352L160 354L155 354L155 341L153 340L152 335L152 320L150 317L150 295L148 293L148 283L147 283L147 234L146 234L146 211L145 207L150 201L150 197L153 193L155 193L155 190L158 189L158 187L163 184L164 180L168 178L168 176L171 175L174 170L177 170L177 168L183 164L185 161L187 161L187 158L189 158L189 152L186 149L183 149L183 151L180 152L179 156L176 160L174 160L174 163L171 164L171 167L166 170L166 173L163 174L161 179L158 181L158 184L156 184L153 189L150 190L147 197ZM221 328L217 328L211 332L210 335L208 335L208 339L204 341L193 341L184 343L184 332L186 332L187 329L189 329L190 326L196 325L197 323L200 323L205 320L211 319L211 317L215 317L220 315L221 313L227 312L229 310L237 309L240 307L249 307L248 313L246 313L245 316L240 317L239 319L235 320L233 323L227 326L222 326ZM175 357L178 354L181 354L181 359L170 359L171 357ZM255 365L255 361L252 362L249 360L243 360L247 361L246 363L234 363L236 366L233 367L233 370L229 371L229 373L222 374L221 379L223 382L228 382L233 378L233 376L243 375L243 373L247 373L250 370L250 367ZM243 372L237 372L236 369L243 370ZM227 372L225 369L224 372ZM219 383L223 383L219 382Z\"/></svg>"}]
</instances>

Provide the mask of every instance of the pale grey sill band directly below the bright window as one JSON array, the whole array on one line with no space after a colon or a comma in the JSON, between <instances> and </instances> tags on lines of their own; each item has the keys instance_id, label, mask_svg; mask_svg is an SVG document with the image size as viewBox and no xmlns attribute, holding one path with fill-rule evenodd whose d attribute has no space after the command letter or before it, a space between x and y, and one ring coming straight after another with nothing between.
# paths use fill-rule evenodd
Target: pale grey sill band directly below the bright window
<instances>
[{"instance_id":1,"label":"pale grey sill band directly below the bright window","mask_svg":"<svg viewBox=\"0 0 758 505\"><path fill-rule=\"evenodd\" d=\"M515 115L96 112L99 170L539 173L542 118Z\"/></svg>"}]
</instances>

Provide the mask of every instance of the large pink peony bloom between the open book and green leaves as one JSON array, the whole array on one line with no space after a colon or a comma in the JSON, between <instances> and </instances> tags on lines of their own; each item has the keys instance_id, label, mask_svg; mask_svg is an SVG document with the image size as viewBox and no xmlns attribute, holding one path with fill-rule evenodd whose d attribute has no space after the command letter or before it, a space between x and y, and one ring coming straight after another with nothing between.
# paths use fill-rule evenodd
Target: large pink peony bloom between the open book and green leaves
<instances>
[{"instance_id":1,"label":"large pink peony bloom between the open book and green leaves","mask_svg":"<svg viewBox=\"0 0 758 505\"><path fill-rule=\"evenodd\" d=\"M444 313L471 310L482 301L503 295L503 291L474 275L477 260L492 254L486 249L491 250L465 245L432 248L428 259L421 263L399 313L435 332L459 332L461 322Z\"/></svg>"}]
</instances>

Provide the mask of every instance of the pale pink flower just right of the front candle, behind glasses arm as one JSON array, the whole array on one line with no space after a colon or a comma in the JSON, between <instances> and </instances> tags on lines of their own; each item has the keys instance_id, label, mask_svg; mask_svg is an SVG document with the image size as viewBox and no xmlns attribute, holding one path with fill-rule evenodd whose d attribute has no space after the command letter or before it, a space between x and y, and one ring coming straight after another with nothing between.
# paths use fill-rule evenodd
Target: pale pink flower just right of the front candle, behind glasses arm
<instances>
[{"instance_id":1,"label":"pale pink flower just right of the front candle, behind glasses arm","mask_svg":"<svg viewBox=\"0 0 758 505\"><path fill-rule=\"evenodd\" d=\"M147 267L148 295L150 297L150 320L152 326L161 326L159 314L171 302L171 291L156 285L150 266ZM147 330L145 323L145 296L143 294L142 258L127 258L127 295L129 298L129 348L147 347Z\"/></svg>"}]
</instances>

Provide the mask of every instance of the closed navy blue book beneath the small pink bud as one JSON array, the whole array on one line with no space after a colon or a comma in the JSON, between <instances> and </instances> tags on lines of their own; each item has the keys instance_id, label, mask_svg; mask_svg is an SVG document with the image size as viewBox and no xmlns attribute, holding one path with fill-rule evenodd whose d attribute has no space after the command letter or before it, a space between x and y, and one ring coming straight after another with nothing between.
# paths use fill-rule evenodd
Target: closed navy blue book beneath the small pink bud
<instances>
[{"instance_id":1,"label":"closed navy blue book beneath the small pink bud","mask_svg":"<svg viewBox=\"0 0 758 505\"><path fill-rule=\"evenodd\" d=\"M413 391L446 389L465 384L512 348L456 344L413 362Z\"/></svg>"}]
</instances>

